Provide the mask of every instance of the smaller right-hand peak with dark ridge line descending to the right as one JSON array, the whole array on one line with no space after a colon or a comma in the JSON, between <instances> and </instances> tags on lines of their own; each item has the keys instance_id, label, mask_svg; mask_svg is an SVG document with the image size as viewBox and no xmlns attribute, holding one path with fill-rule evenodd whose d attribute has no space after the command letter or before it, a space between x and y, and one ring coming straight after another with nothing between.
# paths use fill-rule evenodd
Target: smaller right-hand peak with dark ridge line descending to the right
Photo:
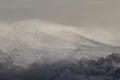
<instances>
[{"instance_id":1,"label":"smaller right-hand peak with dark ridge line descending to the right","mask_svg":"<svg viewBox=\"0 0 120 80\"><path fill-rule=\"evenodd\" d=\"M103 44L94 40L91 40L89 38L86 38L84 36L81 36L77 33L71 32L71 31L61 31L57 32L55 36L59 37L60 39L65 40L68 43L73 43L75 45L80 46L88 46L88 47L110 47L107 44Z\"/></svg>"}]
</instances>

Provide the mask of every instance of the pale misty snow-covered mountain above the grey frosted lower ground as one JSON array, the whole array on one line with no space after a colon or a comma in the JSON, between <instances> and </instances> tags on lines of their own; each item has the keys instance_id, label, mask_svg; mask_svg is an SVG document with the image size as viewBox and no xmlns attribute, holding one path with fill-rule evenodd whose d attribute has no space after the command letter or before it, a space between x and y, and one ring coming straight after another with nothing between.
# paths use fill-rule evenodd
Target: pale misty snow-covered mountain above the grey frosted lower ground
<instances>
[{"instance_id":1,"label":"pale misty snow-covered mountain above the grey frosted lower ground","mask_svg":"<svg viewBox=\"0 0 120 80\"><path fill-rule=\"evenodd\" d=\"M20 42L29 45L32 48L79 48L80 46L108 46L75 33L72 27L64 27L40 21L28 20L11 25L2 24L0 26L0 30L0 38L14 40L14 42Z\"/></svg>"}]
</instances>

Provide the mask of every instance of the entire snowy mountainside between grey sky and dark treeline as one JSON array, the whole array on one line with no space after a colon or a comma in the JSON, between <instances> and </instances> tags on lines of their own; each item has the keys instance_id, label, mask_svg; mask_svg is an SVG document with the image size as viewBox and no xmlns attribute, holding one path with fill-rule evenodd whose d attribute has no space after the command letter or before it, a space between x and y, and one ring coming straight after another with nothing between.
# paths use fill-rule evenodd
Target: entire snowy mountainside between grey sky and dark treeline
<instances>
[{"instance_id":1,"label":"entire snowy mountainside between grey sky and dark treeline","mask_svg":"<svg viewBox=\"0 0 120 80\"><path fill-rule=\"evenodd\" d=\"M119 47L89 39L80 35L76 28L38 20L1 23L0 49L20 66L35 62L75 62L83 57L96 58L119 52ZM0 55L1 59L5 56Z\"/></svg>"}]
</instances>

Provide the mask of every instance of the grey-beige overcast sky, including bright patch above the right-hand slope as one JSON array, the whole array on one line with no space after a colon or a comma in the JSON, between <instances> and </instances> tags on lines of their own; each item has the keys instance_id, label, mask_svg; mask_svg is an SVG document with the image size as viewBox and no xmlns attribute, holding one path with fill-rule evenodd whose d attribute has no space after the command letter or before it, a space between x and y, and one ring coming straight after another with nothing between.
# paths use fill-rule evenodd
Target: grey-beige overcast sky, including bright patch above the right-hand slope
<instances>
[{"instance_id":1,"label":"grey-beige overcast sky, including bright patch above the right-hand slope","mask_svg":"<svg viewBox=\"0 0 120 80\"><path fill-rule=\"evenodd\" d=\"M120 45L120 0L0 0L1 22L29 19L85 27L85 36Z\"/></svg>"}]
</instances>

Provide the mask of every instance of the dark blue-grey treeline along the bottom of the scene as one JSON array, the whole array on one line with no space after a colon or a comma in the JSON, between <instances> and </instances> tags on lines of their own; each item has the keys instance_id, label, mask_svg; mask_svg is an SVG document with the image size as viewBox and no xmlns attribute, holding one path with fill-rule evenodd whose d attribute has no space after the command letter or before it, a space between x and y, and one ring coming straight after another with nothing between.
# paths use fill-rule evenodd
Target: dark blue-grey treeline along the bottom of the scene
<instances>
[{"instance_id":1,"label":"dark blue-grey treeline along the bottom of the scene","mask_svg":"<svg viewBox=\"0 0 120 80\"><path fill-rule=\"evenodd\" d=\"M8 63L0 64L0 80L120 80L120 55L99 59L82 59L67 64L61 61L49 65L33 63L25 69Z\"/></svg>"}]
</instances>

